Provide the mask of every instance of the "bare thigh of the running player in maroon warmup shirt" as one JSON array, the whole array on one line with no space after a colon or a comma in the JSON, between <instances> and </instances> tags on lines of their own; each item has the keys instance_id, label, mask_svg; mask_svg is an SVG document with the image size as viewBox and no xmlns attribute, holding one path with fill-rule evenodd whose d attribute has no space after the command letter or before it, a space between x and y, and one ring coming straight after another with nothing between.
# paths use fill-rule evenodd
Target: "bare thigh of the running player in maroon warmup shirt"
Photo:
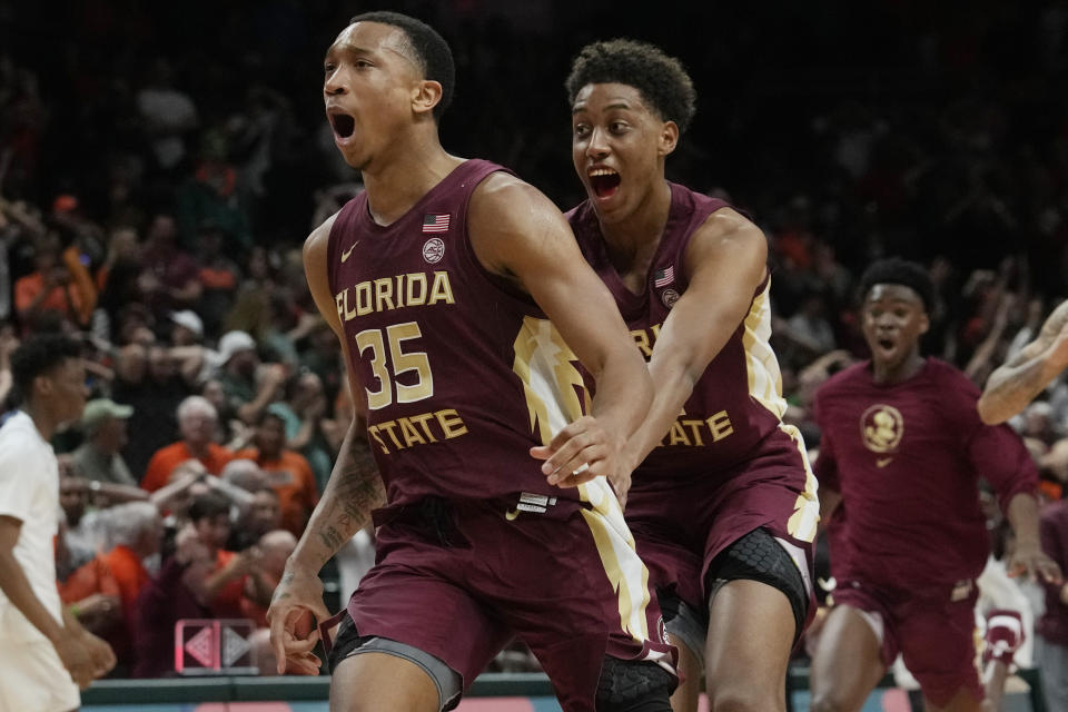
<instances>
[{"instance_id":1,"label":"bare thigh of the running player in maroon warmup shirt","mask_svg":"<svg viewBox=\"0 0 1068 712\"><path fill-rule=\"evenodd\" d=\"M866 615L851 605L828 614L812 657L812 712L859 710L886 674L882 641Z\"/></svg>"}]
</instances>

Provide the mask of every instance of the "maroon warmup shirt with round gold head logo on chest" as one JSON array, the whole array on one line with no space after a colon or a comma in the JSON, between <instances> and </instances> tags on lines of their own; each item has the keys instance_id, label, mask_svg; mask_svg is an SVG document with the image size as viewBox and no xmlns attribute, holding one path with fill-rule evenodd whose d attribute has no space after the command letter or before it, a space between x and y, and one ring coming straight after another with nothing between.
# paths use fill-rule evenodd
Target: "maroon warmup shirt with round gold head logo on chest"
<instances>
[{"instance_id":1,"label":"maroon warmup shirt with round gold head logo on chest","mask_svg":"<svg viewBox=\"0 0 1068 712\"><path fill-rule=\"evenodd\" d=\"M892 385L876 384L866 362L817 392L815 473L842 494L847 513L848 535L834 543L848 551L831 552L846 556L842 574L916 592L979 575L990 544L977 479L1007 511L1013 495L1035 492L1038 473L1010 427L983 425L978 399L963 374L936 358Z\"/></svg>"}]
</instances>

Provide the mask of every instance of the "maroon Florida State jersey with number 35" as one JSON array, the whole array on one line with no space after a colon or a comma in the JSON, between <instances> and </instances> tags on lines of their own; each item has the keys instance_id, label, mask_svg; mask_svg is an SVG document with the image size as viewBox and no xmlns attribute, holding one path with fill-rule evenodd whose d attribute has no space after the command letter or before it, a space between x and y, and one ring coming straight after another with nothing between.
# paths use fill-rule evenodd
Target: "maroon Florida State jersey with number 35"
<instances>
[{"instance_id":1,"label":"maroon Florida State jersey with number 35","mask_svg":"<svg viewBox=\"0 0 1068 712\"><path fill-rule=\"evenodd\" d=\"M387 227L360 194L330 230L330 289L392 505L425 495L585 498L548 485L528 452L582 415L577 362L468 240L467 204L498 170L467 160ZM545 511L545 500L528 500Z\"/></svg>"}]
</instances>

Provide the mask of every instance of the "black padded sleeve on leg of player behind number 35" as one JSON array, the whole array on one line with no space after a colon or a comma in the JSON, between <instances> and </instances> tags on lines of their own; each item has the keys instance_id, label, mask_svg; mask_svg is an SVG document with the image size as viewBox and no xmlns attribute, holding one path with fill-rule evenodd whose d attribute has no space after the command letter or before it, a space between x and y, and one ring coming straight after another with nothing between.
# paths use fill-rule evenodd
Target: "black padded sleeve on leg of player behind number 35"
<instances>
[{"instance_id":1,"label":"black padded sleeve on leg of player behind number 35","mask_svg":"<svg viewBox=\"0 0 1068 712\"><path fill-rule=\"evenodd\" d=\"M759 581L785 594L793 610L797 641L809 613L809 591L798 565L768 531L753 530L716 556L704 577L705 591L715 591L718 582L739 578Z\"/></svg>"}]
</instances>

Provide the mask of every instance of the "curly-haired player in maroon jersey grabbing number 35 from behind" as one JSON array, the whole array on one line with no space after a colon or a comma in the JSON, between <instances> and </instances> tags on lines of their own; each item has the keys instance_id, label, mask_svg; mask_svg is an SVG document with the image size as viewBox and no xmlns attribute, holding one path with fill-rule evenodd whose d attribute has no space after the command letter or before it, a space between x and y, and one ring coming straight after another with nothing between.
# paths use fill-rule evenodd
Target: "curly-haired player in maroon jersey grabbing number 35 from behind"
<instances>
[{"instance_id":1,"label":"curly-haired player in maroon jersey grabbing number 35 from behind","mask_svg":"<svg viewBox=\"0 0 1068 712\"><path fill-rule=\"evenodd\" d=\"M713 710L784 710L819 504L801 436L781 421L767 241L722 200L664 179L693 115L675 59L595 42L566 88L589 196L567 216L655 388L613 484L680 647L672 705L696 709L703 669Z\"/></svg>"}]
</instances>

